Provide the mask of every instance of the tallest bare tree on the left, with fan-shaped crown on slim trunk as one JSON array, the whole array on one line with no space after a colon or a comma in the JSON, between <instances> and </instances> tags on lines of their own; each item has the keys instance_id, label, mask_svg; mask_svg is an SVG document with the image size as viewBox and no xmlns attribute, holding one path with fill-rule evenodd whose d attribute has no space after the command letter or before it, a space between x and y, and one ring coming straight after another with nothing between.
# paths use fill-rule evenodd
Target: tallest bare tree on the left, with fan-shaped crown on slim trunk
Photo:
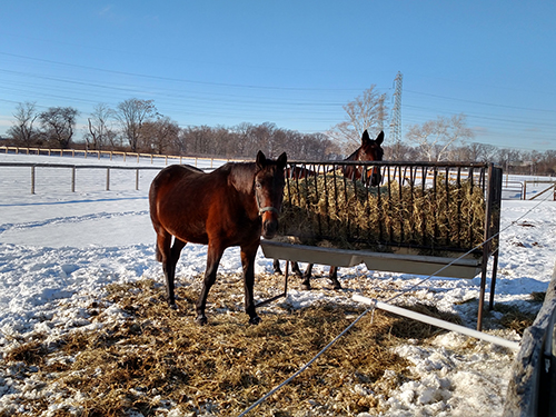
<instances>
[{"instance_id":1,"label":"tallest bare tree on the left, with fan-shaped crown on slim trunk","mask_svg":"<svg viewBox=\"0 0 556 417\"><path fill-rule=\"evenodd\" d=\"M137 152L142 123L157 112L153 100L128 99L118 105L116 117L132 152Z\"/></svg>"}]
</instances>

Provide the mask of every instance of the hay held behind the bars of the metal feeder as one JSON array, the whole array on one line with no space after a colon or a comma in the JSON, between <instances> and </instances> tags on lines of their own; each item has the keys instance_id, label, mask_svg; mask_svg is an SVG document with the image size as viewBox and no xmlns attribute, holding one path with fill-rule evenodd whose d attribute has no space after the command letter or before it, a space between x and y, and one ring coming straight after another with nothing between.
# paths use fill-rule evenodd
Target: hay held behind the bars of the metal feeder
<instances>
[{"instance_id":1,"label":"hay held behind the bars of the metal feeder","mask_svg":"<svg viewBox=\"0 0 556 417\"><path fill-rule=\"evenodd\" d=\"M469 249L484 238L485 198L470 181L366 187L339 173L291 180L279 234L294 242L387 250L390 245Z\"/></svg>"}]
</instances>

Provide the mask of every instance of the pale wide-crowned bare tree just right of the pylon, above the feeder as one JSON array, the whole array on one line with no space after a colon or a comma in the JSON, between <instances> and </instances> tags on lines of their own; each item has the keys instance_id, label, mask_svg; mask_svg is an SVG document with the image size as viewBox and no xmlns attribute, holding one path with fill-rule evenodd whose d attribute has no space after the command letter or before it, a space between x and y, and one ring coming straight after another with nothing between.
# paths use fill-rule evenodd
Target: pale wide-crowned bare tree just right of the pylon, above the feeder
<instances>
[{"instance_id":1,"label":"pale wide-crowned bare tree just right of the pylon, above the feeder","mask_svg":"<svg viewBox=\"0 0 556 417\"><path fill-rule=\"evenodd\" d=\"M466 127L466 117L463 113L451 118L438 116L436 120L413 125L406 133L406 139L417 145L421 155L429 161L446 159L454 145L473 137L473 130Z\"/></svg>"}]
</instances>

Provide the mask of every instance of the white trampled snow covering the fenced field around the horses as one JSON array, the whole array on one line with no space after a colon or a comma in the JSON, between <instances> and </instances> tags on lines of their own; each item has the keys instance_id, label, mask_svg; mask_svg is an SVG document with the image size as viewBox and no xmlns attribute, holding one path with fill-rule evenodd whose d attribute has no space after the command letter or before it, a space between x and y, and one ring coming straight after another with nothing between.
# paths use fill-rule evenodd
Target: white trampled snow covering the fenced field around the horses
<instances>
[{"instance_id":1,"label":"white trampled snow covering the fenced field around the horses","mask_svg":"<svg viewBox=\"0 0 556 417\"><path fill-rule=\"evenodd\" d=\"M12 161L138 166L135 160L0 155L0 162ZM139 165L152 167L147 160ZM1 353L12 348L17 337L33 332L57 338L68 331L90 329L92 325L83 306L98 299L108 284L162 279L161 266L155 260L155 232L148 212L148 187L157 171L141 171L136 190L135 170L115 170L110 191L106 191L106 170L78 170L76 192L71 192L70 172L70 169L38 168L36 193L31 195L29 167L0 167ZM543 187L546 185L528 187L528 192L539 192ZM552 197L547 192L532 201L503 201L496 302L524 310L539 308L528 299L532 292L546 290L556 260L556 202ZM202 274L205 262L205 247L188 245L178 262L178 281ZM317 272L319 268L316 266ZM230 248L219 272L240 271L239 250ZM259 250L256 274L262 272L271 274L271 259L266 259ZM374 288L396 286L400 290L421 278L371 271L365 266L342 268L339 276L346 285L358 280ZM288 302L296 307L322 298L345 302L351 297L351 292L320 289L308 292L295 288L288 295ZM478 291L479 278L434 278L399 300L428 302L440 310L458 312L466 326L475 328L477 304L463 301L476 299ZM488 317L495 318L496 312ZM494 327L487 320L487 331L519 340L518 335ZM470 342L453 332L438 336L431 346L416 341L397 351L413 364L415 378L395 388L389 399L381 399L388 416L502 415L515 353L487 342ZM13 366L0 364L2 414L12 409L18 398L29 398L39 388L33 388L31 380L18 378ZM24 414L26 409L19 411ZM172 413L170 407L167 415L178 415ZM365 416L368 415L360 415Z\"/></svg>"}]
</instances>

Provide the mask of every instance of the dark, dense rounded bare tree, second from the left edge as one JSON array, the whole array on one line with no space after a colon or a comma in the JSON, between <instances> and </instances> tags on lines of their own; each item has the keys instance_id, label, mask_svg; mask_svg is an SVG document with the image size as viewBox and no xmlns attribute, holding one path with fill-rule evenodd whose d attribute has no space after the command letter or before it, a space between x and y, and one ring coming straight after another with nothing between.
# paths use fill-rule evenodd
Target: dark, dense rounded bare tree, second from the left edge
<instances>
[{"instance_id":1,"label":"dark, dense rounded bare tree, second from the left edge","mask_svg":"<svg viewBox=\"0 0 556 417\"><path fill-rule=\"evenodd\" d=\"M42 135L60 149L67 149L73 137L79 111L72 107L51 107L39 115Z\"/></svg>"}]
</instances>

